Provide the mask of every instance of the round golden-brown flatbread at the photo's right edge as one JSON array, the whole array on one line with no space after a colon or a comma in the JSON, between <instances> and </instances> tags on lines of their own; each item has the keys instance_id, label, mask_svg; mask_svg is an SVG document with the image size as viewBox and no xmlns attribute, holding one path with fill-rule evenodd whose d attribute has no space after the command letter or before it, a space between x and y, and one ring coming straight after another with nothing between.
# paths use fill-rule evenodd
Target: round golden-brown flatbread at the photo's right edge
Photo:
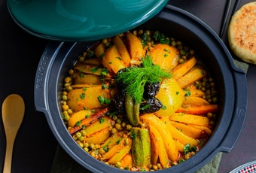
<instances>
[{"instance_id":1,"label":"round golden-brown flatbread at the photo's right edge","mask_svg":"<svg viewBox=\"0 0 256 173\"><path fill-rule=\"evenodd\" d=\"M236 56L256 64L256 2L245 4L236 11L230 20L227 37Z\"/></svg>"}]
</instances>

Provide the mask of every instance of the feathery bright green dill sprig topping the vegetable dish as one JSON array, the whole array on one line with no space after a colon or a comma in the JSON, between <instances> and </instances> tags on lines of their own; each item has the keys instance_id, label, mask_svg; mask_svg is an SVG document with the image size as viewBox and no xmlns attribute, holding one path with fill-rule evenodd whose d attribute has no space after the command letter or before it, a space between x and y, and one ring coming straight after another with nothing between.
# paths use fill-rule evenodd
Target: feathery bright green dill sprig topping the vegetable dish
<instances>
[{"instance_id":1,"label":"feathery bright green dill sprig topping the vegetable dish","mask_svg":"<svg viewBox=\"0 0 256 173\"><path fill-rule=\"evenodd\" d=\"M132 96L135 102L142 102L144 86L146 83L157 83L163 80L163 78L169 78L171 74L159 65L153 65L150 56L146 56L142 59L142 65L140 67L126 68L126 71L117 73L115 80L119 83L123 83L126 94Z\"/></svg>"}]
</instances>

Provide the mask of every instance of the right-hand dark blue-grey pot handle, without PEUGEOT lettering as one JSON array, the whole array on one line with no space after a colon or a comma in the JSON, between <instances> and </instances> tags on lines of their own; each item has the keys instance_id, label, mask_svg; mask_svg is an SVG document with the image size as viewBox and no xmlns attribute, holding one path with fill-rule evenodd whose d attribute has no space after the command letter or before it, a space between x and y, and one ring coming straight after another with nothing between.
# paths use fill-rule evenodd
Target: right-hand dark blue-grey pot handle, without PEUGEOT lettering
<instances>
[{"instance_id":1,"label":"right-hand dark blue-grey pot handle, without PEUGEOT lettering","mask_svg":"<svg viewBox=\"0 0 256 173\"><path fill-rule=\"evenodd\" d=\"M229 153L230 150L232 150L234 144L239 138L239 134L242 131L242 126L245 122L248 102L247 78L245 71L243 71L241 68L236 68L236 66L233 66L233 70L237 98L235 99L232 121L225 135L226 137L223 141L221 141L221 147L219 147L220 151L226 153Z\"/></svg>"}]
</instances>

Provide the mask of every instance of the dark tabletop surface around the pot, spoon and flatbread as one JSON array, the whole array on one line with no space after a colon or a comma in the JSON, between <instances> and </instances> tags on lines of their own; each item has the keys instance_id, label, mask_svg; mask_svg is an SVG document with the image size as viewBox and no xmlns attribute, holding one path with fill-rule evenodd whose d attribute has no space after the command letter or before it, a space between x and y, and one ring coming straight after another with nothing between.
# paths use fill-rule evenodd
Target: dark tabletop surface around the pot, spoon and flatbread
<instances>
[{"instance_id":1,"label":"dark tabletop surface around the pot, spoon and flatbread","mask_svg":"<svg viewBox=\"0 0 256 173\"><path fill-rule=\"evenodd\" d=\"M241 1L239 7L247 2ZM170 5L182 8L199 17L217 34L220 33L226 1L172 0ZM224 32L227 44L227 29ZM0 0L0 103L9 94L23 96L26 114L14 144L12 172L50 172L57 142L45 115L35 111L34 80L41 53L48 41L29 35L11 19L5 0ZM228 44L227 44L228 47ZM248 109L245 124L233 150L224 153L219 172L229 172L245 162L256 159L256 65L249 65ZM2 113L1 113L2 114ZM5 130L0 118L0 171L5 159Z\"/></svg>"}]
</instances>

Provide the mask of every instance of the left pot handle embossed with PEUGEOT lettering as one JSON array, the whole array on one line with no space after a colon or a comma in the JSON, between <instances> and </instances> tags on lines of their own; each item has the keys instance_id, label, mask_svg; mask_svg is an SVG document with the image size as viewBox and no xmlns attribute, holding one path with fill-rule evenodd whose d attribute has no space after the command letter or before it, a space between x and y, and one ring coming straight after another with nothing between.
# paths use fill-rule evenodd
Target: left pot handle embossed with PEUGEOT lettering
<instances>
[{"instance_id":1,"label":"left pot handle embossed with PEUGEOT lettering","mask_svg":"<svg viewBox=\"0 0 256 173\"><path fill-rule=\"evenodd\" d=\"M44 112L47 108L45 99L47 97L47 91L45 85L47 84L48 68L53 62L54 57L62 47L63 42L50 41L45 47L41 59L38 63L38 68L35 73L35 85L34 85L34 100L35 110Z\"/></svg>"}]
</instances>

